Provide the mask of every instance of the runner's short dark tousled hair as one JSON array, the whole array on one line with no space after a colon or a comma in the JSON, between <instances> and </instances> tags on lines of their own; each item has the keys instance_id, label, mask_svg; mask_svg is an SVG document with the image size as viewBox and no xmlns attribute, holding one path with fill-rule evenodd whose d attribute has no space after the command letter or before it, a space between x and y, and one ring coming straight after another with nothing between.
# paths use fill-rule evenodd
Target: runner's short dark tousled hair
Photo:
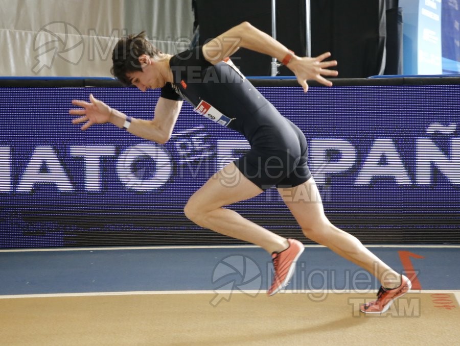
<instances>
[{"instance_id":1,"label":"runner's short dark tousled hair","mask_svg":"<svg viewBox=\"0 0 460 346\"><path fill-rule=\"evenodd\" d=\"M126 77L128 72L142 71L139 57L146 54L154 57L161 52L147 39L145 31L137 35L122 37L112 52L112 68L110 72L120 82L131 85L131 80Z\"/></svg>"}]
</instances>

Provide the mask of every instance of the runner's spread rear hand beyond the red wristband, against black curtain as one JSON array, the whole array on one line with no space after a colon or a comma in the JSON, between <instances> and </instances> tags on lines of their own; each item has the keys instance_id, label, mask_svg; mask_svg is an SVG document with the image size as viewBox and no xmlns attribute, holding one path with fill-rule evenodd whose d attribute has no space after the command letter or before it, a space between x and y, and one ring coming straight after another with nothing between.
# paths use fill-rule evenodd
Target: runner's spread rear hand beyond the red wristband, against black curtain
<instances>
[{"instance_id":1,"label":"runner's spread rear hand beyond the red wristband, against black curtain","mask_svg":"<svg viewBox=\"0 0 460 346\"><path fill-rule=\"evenodd\" d=\"M294 72L297 77L297 82L300 84L304 91L308 91L307 80L315 80L326 86L332 86L332 82L325 79L323 76L336 77L338 72L335 70L328 69L329 67L336 66L337 61L323 61L331 56L331 53L323 53L316 58L299 58L294 57L287 67Z\"/></svg>"}]
</instances>

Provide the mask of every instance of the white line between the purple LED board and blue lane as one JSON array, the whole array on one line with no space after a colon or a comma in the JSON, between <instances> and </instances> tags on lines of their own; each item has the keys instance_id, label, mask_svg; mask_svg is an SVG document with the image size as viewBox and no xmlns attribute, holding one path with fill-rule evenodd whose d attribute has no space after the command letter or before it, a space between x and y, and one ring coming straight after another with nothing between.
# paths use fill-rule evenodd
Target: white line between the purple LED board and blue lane
<instances>
[{"instance_id":1,"label":"white line between the purple LED board and blue lane","mask_svg":"<svg viewBox=\"0 0 460 346\"><path fill-rule=\"evenodd\" d=\"M366 248L395 249L460 249L460 245L364 245ZM324 245L307 244L306 248L325 248ZM50 249L0 249L2 252L53 252L53 251L120 251L120 250L181 250L181 249L250 249L257 245L197 245L197 246L124 246L105 248L50 248Z\"/></svg>"}]
</instances>

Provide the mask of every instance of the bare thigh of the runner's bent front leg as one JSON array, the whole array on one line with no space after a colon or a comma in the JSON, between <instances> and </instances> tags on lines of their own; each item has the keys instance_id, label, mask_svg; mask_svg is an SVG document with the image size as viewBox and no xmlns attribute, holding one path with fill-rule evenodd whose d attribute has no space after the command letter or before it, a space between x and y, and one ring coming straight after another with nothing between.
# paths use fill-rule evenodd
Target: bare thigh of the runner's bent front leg
<instances>
[{"instance_id":1,"label":"bare thigh of the runner's bent front leg","mask_svg":"<svg viewBox=\"0 0 460 346\"><path fill-rule=\"evenodd\" d=\"M250 199L262 192L260 187L249 181L235 163L231 162L201 186L190 197L189 203L197 203L212 210Z\"/></svg>"}]
</instances>

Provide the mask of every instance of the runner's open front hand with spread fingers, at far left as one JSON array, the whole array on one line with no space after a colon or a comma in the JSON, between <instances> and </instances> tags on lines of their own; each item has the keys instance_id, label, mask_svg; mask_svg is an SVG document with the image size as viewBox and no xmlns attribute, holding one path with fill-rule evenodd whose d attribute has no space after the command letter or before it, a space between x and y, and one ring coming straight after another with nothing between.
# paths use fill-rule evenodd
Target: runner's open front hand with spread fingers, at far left
<instances>
[{"instance_id":1,"label":"runner's open front hand with spread fingers, at far left","mask_svg":"<svg viewBox=\"0 0 460 346\"><path fill-rule=\"evenodd\" d=\"M81 127L86 130L95 123L106 123L110 120L111 108L102 101L96 99L93 94L89 94L89 101L72 100L72 104L82 108L71 109L69 114L82 115L72 120L72 123L78 124L84 122Z\"/></svg>"}]
</instances>

